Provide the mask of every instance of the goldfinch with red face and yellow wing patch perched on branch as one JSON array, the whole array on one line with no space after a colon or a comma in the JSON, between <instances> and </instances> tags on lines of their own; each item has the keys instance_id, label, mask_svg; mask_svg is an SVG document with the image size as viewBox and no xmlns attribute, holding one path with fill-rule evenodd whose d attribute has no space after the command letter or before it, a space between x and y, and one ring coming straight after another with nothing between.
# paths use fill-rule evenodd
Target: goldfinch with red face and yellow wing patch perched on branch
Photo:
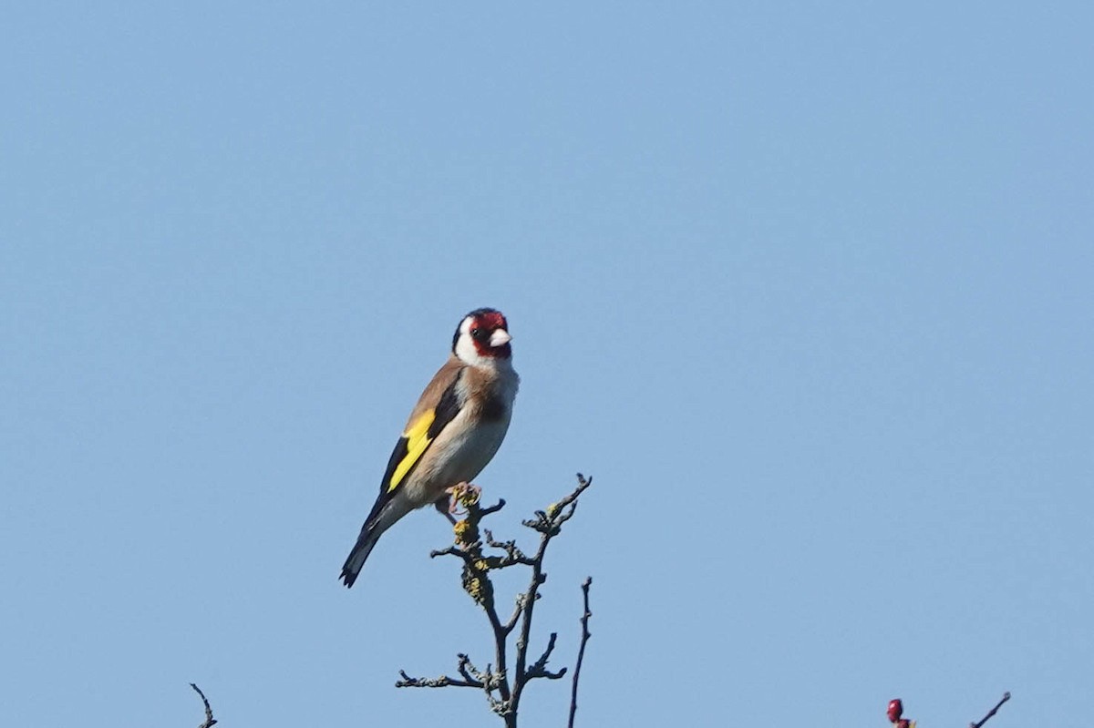
<instances>
[{"instance_id":1,"label":"goldfinch with red face and yellow wing patch perched on branch","mask_svg":"<svg viewBox=\"0 0 1094 728\"><path fill-rule=\"evenodd\" d=\"M505 317L493 308L478 308L459 321L452 354L411 410L380 496L342 566L347 587L395 521L431 503L447 515L447 492L469 483L498 451L520 384L510 340Z\"/></svg>"}]
</instances>

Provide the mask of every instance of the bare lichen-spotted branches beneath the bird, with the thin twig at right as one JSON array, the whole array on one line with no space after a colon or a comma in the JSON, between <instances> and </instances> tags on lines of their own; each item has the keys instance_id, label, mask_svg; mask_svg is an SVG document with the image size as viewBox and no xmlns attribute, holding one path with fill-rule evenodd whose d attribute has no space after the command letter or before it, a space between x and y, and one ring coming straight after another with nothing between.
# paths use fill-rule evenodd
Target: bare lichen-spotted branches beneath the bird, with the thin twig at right
<instances>
[{"instance_id":1,"label":"bare lichen-spotted branches beneath the bird, with the thin twig at right","mask_svg":"<svg viewBox=\"0 0 1094 728\"><path fill-rule=\"evenodd\" d=\"M501 510L505 505L499 501L496 505L482 507L478 502L478 493L464 492L453 494L467 510L467 516L453 527L455 543L447 549L433 551L431 556L455 556L463 561L463 587L475 603L486 612L487 620L493 631L493 662L487 664L480 670L470 658L461 654L457 656L456 671L458 677L442 676L440 678L411 678L399 671L401 679L395 683L397 688L477 688L486 693L490 708L504 721L507 728L516 726L517 709L525 686L536 678L559 680L567 673L567 668L552 671L547 668L558 634L550 633L543 653L534 661L528 661L529 637L532 633L532 617L536 600L539 598L539 587L547 580L543 570L544 556L551 539L559 535L562 524L573 517L578 507L578 497L592 484L592 478L578 474L578 486L572 493L558 503L552 503L546 510L537 510L535 518L522 521L526 527L539 535L539 543L534 554L522 551L515 540L498 541L488 528L481 528L484 517ZM516 604L508 619L502 621L498 614L494 601L493 583L490 572L524 566L529 574L528 587L516 596ZM589 641L589 587L592 578L582 584L584 613L581 618L581 643L577 664L573 669L573 683L570 697L570 721L573 726L574 713L578 706L578 678L581 662L584 659L585 643ZM513 644L512 661L510 660L509 637L516 632ZM512 666L512 667L510 667Z\"/></svg>"}]
</instances>

